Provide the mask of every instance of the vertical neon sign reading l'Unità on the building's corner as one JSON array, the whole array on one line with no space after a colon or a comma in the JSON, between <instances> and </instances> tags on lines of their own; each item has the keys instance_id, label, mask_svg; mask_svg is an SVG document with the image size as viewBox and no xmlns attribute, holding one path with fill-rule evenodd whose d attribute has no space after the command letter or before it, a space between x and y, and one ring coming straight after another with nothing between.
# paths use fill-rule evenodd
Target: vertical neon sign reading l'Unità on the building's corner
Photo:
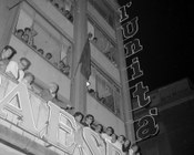
<instances>
[{"instance_id":1,"label":"vertical neon sign reading l'Unit\u00e0 on the building's corner","mask_svg":"<svg viewBox=\"0 0 194 155\"><path fill-rule=\"evenodd\" d=\"M143 75L143 70L141 69L137 53L143 50L143 45L140 39L135 38L139 32L139 17L129 20L127 10L132 6L132 2L119 9L120 11L120 22L121 30L123 32L123 42L125 58L131 61L131 64L126 66L131 71L129 75L129 82L136 81ZM151 103L151 97L147 95L149 86L145 86L143 81L139 81L133 86L130 86L130 93L132 94L132 100L135 99L137 102L137 107L133 108L131 112L143 108ZM157 115L157 108L153 107L147 114L139 120L135 120L134 128L136 141L142 141L147 137L155 135L159 132L159 125L155 122L155 116Z\"/></svg>"}]
</instances>

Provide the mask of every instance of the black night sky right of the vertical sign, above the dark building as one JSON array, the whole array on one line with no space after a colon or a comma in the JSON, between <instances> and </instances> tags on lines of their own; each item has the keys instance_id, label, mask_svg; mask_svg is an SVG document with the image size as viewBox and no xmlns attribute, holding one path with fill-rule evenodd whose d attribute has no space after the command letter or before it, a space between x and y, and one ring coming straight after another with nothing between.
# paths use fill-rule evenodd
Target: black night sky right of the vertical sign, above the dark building
<instances>
[{"instance_id":1,"label":"black night sky right of the vertical sign, above the dark building","mask_svg":"<svg viewBox=\"0 0 194 155\"><path fill-rule=\"evenodd\" d=\"M134 83L143 81L152 91L184 78L194 82L194 6L187 0L132 0L129 13L129 19L139 17L134 38L144 48L136 54L144 75Z\"/></svg>"}]
</instances>

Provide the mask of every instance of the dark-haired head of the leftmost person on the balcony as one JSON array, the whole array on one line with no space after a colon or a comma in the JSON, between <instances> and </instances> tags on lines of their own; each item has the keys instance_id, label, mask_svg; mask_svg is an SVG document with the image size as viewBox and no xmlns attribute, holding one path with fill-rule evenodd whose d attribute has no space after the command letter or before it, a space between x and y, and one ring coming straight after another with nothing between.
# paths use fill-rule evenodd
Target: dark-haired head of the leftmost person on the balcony
<instances>
[{"instance_id":1,"label":"dark-haired head of the leftmost person on the balcony","mask_svg":"<svg viewBox=\"0 0 194 155\"><path fill-rule=\"evenodd\" d=\"M11 59L14 54L17 53L17 51L10 46L10 45L6 45L2 50L2 53L1 53L1 59L4 60L4 59Z\"/></svg>"}]
</instances>

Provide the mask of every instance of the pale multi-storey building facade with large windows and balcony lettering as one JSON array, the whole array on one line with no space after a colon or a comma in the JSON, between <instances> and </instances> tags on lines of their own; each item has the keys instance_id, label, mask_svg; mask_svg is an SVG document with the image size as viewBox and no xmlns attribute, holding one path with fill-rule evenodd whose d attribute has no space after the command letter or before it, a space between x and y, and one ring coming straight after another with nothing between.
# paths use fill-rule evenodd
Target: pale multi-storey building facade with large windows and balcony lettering
<instances>
[{"instance_id":1,"label":"pale multi-storey building facade with large windows and balcony lettering","mask_svg":"<svg viewBox=\"0 0 194 155\"><path fill-rule=\"evenodd\" d=\"M114 0L0 0L0 50L16 49L12 60L30 60L35 76L34 93L1 72L0 154L81 154L71 115L78 111L135 141L133 125L125 123L133 118L118 8ZM27 28L30 35L21 37ZM80 58L89 34L86 81ZM2 95L4 79L14 86ZM38 95L52 82L59 85L60 106ZM67 105L72 113L63 111Z\"/></svg>"}]
</instances>

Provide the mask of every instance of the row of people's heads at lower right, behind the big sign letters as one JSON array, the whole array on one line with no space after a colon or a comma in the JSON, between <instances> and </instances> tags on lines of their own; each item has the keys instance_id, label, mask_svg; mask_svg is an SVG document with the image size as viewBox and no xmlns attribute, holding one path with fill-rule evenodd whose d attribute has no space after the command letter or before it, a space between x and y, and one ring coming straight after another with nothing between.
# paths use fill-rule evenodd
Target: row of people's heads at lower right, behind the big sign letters
<instances>
[{"instance_id":1,"label":"row of people's heads at lower right, behind the big sign letters","mask_svg":"<svg viewBox=\"0 0 194 155\"><path fill-rule=\"evenodd\" d=\"M86 114L84 116L81 112L75 112L73 116L81 126L86 126L95 131L102 138L106 138L118 145L126 155L137 152L139 147L135 144L131 144L129 138L124 135L116 135L112 126L105 127L102 124L95 123L93 115Z\"/></svg>"}]
</instances>

